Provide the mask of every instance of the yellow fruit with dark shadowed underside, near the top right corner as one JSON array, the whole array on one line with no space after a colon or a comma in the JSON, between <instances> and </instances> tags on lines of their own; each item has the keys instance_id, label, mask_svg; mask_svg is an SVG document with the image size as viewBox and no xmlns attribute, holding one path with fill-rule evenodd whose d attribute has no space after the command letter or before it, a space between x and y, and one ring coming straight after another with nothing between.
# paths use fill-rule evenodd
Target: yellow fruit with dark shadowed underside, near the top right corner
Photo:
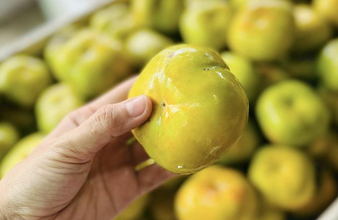
<instances>
[{"instance_id":1,"label":"yellow fruit with dark shadowed underside, near the top right corner","mask_svg":"<svg viewBox=\"0 0 338 220\"><path fill-rule=\"evenodd\" d=\"M296 24L296 40L293 50L296 53L316 50L333 36L330 24L310 5L296 5L293 14Z\"/></svg>"}]
</instances>

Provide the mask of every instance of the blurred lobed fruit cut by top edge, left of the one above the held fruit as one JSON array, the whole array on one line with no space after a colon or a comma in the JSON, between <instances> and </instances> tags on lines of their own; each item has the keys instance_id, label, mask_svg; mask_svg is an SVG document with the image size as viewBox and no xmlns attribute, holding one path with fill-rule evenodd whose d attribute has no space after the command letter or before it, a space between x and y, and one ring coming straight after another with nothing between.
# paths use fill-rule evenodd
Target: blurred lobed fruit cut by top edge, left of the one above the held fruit
<instances>
[{"instance_id":1,"label":"blurred lobed fruit cut by top edge, left of the one above the held fruit","mask_svg":"<svg viewBox=\"0 0 338 220\"><path fill-rule=\"evenodd\" d=\"M167 34L178 31L183 0L132 0L131 11L136 25L155 28Z\"/></svg>"}]
</instances>

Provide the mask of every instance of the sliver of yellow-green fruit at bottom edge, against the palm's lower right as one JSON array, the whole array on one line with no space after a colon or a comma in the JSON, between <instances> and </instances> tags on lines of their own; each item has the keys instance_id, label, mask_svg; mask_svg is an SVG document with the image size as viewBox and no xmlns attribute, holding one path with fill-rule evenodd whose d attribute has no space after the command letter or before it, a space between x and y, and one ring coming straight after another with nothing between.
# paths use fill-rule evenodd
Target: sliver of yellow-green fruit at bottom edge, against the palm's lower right
<instances>
[{"instance_id":1,"label":"sliver of yellow-green fruit at bottom edge, against the palm's lower right","mask_svg":"<svg viewBox=\"0 0 338 220\"><path fill-rule=\"evenodd\" d=\"M149 194L145 194L130 204L114 220L139 220L150 201Z\"/></svg>"}]
</instances>

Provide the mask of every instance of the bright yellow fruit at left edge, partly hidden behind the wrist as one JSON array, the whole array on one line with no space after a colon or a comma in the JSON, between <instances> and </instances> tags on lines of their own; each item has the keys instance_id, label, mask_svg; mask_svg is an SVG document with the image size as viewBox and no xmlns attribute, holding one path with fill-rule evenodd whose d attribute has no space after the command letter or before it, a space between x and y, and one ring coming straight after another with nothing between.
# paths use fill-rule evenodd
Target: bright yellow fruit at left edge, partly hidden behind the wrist
<instances>
[{"instance_id":1,"label":"bright yellow fruit at left edge, partly hidden behind the wrist","mask_svg":"<svg viewBox=\"0 0 338 220\"><path fill-rule=\"evenodd\" d=\"M44 139L40 133L30 134L19 140L3 157L0 163L0 178L2 178L17 163L26 158Z\"/></svg>"}]
</instances>

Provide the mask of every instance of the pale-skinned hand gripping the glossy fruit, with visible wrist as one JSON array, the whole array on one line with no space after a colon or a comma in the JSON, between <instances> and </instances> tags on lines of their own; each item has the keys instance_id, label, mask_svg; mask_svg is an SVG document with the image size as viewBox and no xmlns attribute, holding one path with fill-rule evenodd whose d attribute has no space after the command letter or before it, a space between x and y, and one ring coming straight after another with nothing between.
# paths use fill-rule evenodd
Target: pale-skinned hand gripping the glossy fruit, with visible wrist
<instances>
[{"instance_id":1,"label":"pale-skinned hand gripping the glossy fruit, with visible wrist","mask_svg":"<svg viewBox=\"0 0 338 220\"><path fill-rule=\"evenodd\" d=\"M69 114L0 180L1 220L112 220L173 176L156 164L135 171L148 156L137 142L126 143L152 103L147 96L125 100L134 81Z\"/></svg>"}]
</instances>

